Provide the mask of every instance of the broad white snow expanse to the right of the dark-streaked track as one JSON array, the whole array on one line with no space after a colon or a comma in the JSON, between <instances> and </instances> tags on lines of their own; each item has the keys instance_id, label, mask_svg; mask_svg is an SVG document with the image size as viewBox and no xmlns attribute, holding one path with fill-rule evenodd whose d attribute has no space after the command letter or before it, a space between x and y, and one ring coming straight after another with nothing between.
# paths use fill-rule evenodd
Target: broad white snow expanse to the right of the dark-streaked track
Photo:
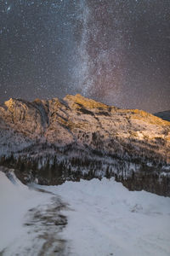
<instances>
[{"instance_id":1,"label":"broad white snow expanse to the right of the dark-streaked track","mask_svg":"<svg viewBox=\"0 0 170 256\"><path fill-rule=\"evenodd\" d=\"M42 188L70 203L70 255L170 255L170 198L128 191L113 178Z\"/></svg>"}]
</instances>

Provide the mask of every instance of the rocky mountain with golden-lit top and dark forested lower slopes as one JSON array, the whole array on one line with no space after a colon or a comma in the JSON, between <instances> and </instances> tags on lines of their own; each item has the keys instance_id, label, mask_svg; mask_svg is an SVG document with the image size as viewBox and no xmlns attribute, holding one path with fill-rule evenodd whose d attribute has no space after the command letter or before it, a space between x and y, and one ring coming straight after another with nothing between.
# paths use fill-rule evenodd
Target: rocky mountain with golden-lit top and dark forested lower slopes
<instances>
[{"instance_id":1,"label":"rocky mountain with golden-lit top and dark forested lower slopes","mask_svg":"<svg viewBox=\"0 0 170 256\"><path fill-rule=\"evenodd\" d=\"M22 181L115 176L128 189L170 195L170 122L81 95L10 99L0 107L0 164Z\"/></svg>"}]
</instances>

